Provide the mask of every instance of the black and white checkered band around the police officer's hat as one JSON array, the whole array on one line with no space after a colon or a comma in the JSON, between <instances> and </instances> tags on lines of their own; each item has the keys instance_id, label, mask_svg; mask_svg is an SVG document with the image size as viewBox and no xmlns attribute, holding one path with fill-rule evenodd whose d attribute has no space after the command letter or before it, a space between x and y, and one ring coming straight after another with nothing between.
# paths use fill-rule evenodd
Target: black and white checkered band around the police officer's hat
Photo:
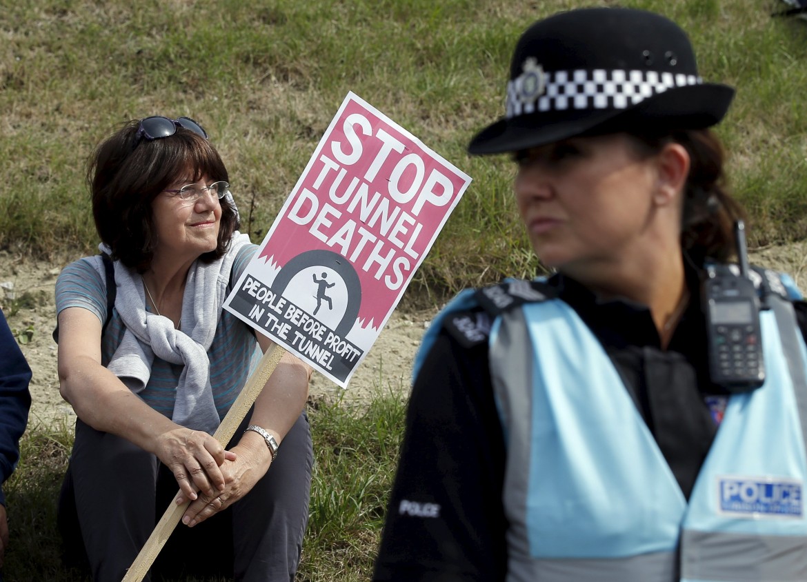
<instances>
[{"instance_id":1,"label":"black and white checkered band around the police officer's hat","mask_svg":"<svg viewBox=\"0 0 807 582\"><path fill-rule=\"evenodd\" d=\"M508 82L506 117L569 109L625 109L667 89L702 82L696 75L658 71L529 71Z\"/></svg>"}]
</instances>

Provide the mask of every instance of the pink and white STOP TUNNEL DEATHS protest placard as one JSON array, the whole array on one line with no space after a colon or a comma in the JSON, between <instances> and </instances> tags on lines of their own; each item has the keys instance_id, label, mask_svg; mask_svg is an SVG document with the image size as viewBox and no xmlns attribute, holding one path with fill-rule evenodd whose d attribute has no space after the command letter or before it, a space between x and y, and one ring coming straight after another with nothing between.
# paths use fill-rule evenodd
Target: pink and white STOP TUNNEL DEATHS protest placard
<instances>
[{"instance_id":1,"label":"pink and white STOP TUNNEL DEATHS protest placard","mask_svg":"<svg viewBox=\"0 0 807 582\"><path fill-rule=\"evenodd\" d=\"M349 93L224 308L347 387L469 184Z\"/></svg>"}]
</instances>

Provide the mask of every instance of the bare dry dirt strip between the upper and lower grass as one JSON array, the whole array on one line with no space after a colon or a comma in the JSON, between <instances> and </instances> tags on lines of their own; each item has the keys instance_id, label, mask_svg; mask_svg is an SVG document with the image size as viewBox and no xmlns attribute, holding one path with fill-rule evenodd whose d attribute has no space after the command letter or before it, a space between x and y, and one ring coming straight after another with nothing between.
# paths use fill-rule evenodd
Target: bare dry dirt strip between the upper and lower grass
<instances>
[{"instance_id":1,"label":"bare dry dirt strip between the upper and lower grass","mask_svg":"<svg viewBox=\"0 0 807 582\"><path fill-rule=\"evenodd\" d=\"M35 425L50 426L61 421L73 425L73 410L59 396L56 343L51 337L56 321L53 286L61 268L71 260L72 257L34 261L12 253L0 253L0 305L8 316L11 329L23 341L28 339L21 347L33 371L31 423ZM790 273L799 287L807 290L807 241L755 249L751 252L751 262ZM342 391L324 376L315 374L312 396L342 396L345 402L362 403L378 391L405 394L412 359L436 310L437 306L416 312L396 309L370 354L353 375L348 389Z\"/></svg>"}]
</instances>

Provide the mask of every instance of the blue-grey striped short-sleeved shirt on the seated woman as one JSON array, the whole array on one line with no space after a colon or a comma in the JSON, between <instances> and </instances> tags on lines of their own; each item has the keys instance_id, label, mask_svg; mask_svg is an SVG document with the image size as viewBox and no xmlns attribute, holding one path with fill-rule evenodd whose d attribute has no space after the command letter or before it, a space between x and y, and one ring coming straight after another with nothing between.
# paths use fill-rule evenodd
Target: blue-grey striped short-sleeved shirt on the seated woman
<instances>
[{"instance_id":1,"label":"blue-grey striped short-sleeved shirt on the seated woman","mask_svg":"<svg viewBox=\"0 0 807 582\"><path fill-rule=\"evenodd\" d=\"M232 265L228 294L240 274L253 258L257 245L245 245L240 249ZM80 258L65 266L56 279L56 313L66 308L85 308L98 316L103 323L107 320L106 275L100 256ZM211 317L218 314L211 313ZM112 309L112 318L101 338L101 362L107 366L123 340L125 331L118 310ZM236 400L240 389L249 377L250 363L253 361L257 340L252 327L232 313L223 309L219 324L207 358L210 359L210 383L213 400L219 417L224 418ZM155 357L151 377L140 396L146 404L171 417L177 395L182 364L172 364Z\"/></svg>"}]
</instances>

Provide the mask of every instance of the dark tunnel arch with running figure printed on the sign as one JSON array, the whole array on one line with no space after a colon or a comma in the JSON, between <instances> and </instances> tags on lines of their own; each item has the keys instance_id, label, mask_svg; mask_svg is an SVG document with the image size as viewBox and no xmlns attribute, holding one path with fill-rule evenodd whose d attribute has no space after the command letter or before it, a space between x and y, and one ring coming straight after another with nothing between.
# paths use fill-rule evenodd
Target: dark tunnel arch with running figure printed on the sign
<instances>
[{"instance_id":1,"label":"dark tunnel arch with running figure printed on the sign","mask_svg":"<svg viewBox=\"0 0 807 582\"><path fill-rule=\"evenodd\" d=\"M341 278L341 281L337 278ZM292 287L290 291L294 292L286 293L288 287ZM333 300L337 299L336 291L341 290L341 295L347 295L346 300L341 302L345 311L338 318L338 323L328 325L338 336L346 337L353 329L359 308L362 306L362 282L353 265L341 254L330 250L309 250L300 253L282 266L274 278L272 289L278 295L286 296L303 308L303 302L298 296L300 288L310 291L307 295L305 293L299 295L306 299L312 297L312 304L316 305L316 308L310 312L312 315L319 315L322 320L327 319L324 314L329 310L334 311L343 307L338 300Z\"/></svg>"}]
</instances>

